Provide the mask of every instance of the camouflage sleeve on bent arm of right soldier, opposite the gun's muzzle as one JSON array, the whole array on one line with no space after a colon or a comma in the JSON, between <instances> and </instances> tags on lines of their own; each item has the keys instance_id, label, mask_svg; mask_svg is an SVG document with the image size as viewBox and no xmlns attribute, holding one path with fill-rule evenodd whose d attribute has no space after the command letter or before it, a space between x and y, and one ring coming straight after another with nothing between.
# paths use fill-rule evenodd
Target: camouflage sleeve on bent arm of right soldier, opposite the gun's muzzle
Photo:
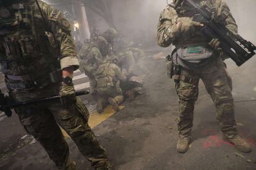
<instances>
[{"instance_id":1,"label":"camouflage sleeve on bent arm of right soldier, opposite the gun's muzzle","mask_svg":"<svg viewBox=\"0 0 256 170\"><path fill-rule=\"evenodd\" d=\"M160 14L158 21L158 45L168 47L179 36L180 32L176 26L177 14L173 7L167 6Z\"/></svg>"}]
</instances>

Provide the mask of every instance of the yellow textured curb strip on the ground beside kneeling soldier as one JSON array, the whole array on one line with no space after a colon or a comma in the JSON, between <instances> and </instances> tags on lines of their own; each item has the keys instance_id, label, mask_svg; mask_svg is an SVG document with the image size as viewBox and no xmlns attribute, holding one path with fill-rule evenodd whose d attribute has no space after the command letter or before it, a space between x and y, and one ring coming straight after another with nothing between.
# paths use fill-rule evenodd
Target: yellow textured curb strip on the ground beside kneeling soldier
<instances>
[{"instance_id":1,"label":"yellow textured curb strip on the ground beside kneeling soldier","mask_svg":"<svg viewBox=\"0 0 256 170\"><path fill-rule=\"evenodd\" d=\"M122 108L124 108L124 106L119 106L119 108L121 110ZM96 110L93 110L90 113L90 118L89 118L88 124L91 128L96 127L98 124L105 121L110 116L114 115L114 113L116 113L116 111L114 111L114 109L111 107L111 105L108 105L108 107L106 107L105 110L101 114L98 113ZM61 129L61 131L65 138L70 138L69 135L67 134L67 132L64 131L64 129Z\"/></svg>"}]
</instances>

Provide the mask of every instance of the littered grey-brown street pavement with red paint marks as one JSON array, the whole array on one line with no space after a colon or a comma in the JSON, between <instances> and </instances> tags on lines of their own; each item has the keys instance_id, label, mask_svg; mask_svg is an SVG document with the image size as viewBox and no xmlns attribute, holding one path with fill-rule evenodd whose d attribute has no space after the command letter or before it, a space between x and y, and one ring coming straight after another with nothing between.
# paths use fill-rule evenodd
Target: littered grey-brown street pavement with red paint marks
<instances>
[{"instance_id":1,"label":"littered grey-brown street pavement with red paint marks","mask_svg":"<svg viewBox=\"0 0 256 170\"><path fill-rule=\"evenodd\" d=\"M166 76L164 59L147 59L145 63L151 71L145 78L145 94L133 102L124 102L124 108L93 128L115 169L256 169L256 59L242 67L227 61L233 77L237 127L252 145L252 153L238 152L222 140L215 107L202 82L195 105L192 144L187 153L177 153L178 107L173 80ZM75 78L77 89L87 87L88 78L82 73L75 73ZM0 86L4 88L2 79ZM82 99L87 105L92 100L89 96ZM93 111L93 106L88 107ZM40 144L26 135L16 114L11 118L0 114L0 132L0 169L56 169ZM77 168L92 169L74 142L70 138L67 142Z\"/></svg>"}]
</instances>

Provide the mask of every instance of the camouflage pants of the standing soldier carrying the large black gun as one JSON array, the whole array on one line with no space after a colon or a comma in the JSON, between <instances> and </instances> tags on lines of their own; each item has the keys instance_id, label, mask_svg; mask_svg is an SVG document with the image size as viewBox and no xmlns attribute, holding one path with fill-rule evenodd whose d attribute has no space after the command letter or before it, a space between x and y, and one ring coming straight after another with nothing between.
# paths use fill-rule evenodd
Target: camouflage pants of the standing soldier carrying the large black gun
<instances>
[{"instance_id":1,"label":"camouflage pants of the standing soldier carrying the large black gun","mask_svg":"<svg viewBox=\"0 0 256 170\"><path fill-rule=\"evenodd\" d=\"M215 103L216 118L224 136L228 138L237 137L230 79L222 62L201 71L182 68L181 80L176 83L176 91L179 95L179 115L177 119L179 136L189 137L191 134L199 79L202 79L208 94Z\"/></svg>"}]
</instances>

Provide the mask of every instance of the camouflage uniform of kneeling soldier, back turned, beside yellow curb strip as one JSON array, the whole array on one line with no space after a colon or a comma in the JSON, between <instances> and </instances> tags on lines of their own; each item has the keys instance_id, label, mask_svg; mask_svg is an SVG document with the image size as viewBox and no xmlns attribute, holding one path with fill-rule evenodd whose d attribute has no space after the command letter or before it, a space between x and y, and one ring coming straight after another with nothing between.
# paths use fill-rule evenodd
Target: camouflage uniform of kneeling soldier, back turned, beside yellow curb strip
<instances>
[{"instance_id":1,"label":"camouflage uniform of kneeling soldier, back turned, beside yellow curb strip","mask_svg":"<svg viewBox=\"0 0 256 170\"><path fill-rule=\"evenodd\" d=\"M96 71L96 80L100 95L97 105L99 113L108 105L109 98L112 98L117 105L124 100L120 81L126 81L126 76L115 63L106 62L101 64Z\"/></svg>"}]
</instances>

